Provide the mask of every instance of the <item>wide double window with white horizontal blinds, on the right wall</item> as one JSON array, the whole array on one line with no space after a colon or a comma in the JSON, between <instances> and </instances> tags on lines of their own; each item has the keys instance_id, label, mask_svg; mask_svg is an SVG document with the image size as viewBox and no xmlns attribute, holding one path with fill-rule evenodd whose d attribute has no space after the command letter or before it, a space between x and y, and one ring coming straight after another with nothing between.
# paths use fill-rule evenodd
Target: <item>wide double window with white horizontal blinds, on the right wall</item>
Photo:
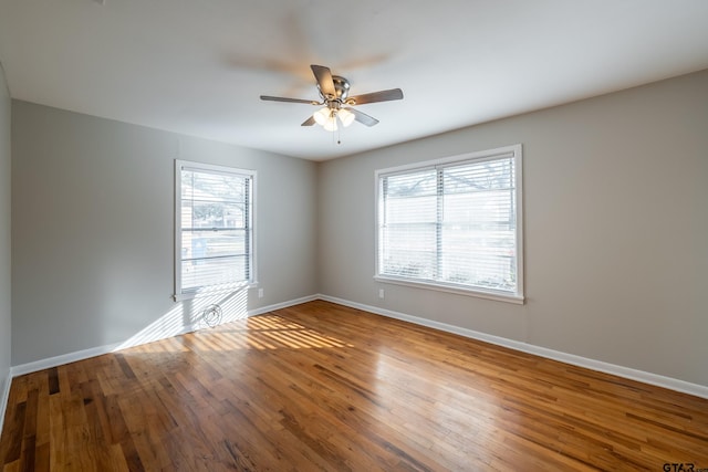
<instances>
[{"instance_id":1,"label":"wide double window with white horizontal blinds, on the right wall","mask_svg":"<svg viewBox=\"0 0 708 472\"><path fill-rule=\"evenodd\" d=\"M376 280L523 302L521 145L376 180Z\"/></svg>"}]
</instances>

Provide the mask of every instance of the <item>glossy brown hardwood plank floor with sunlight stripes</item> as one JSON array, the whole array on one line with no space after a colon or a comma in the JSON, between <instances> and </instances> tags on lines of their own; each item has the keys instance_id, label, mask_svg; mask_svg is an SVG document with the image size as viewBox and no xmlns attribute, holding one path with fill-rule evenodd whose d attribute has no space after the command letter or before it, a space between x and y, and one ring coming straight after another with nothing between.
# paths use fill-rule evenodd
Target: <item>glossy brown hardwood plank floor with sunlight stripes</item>
<instances>
[{"instance_id":1,"label":"glossy brown hardwood plank floor with sunlight stripes","mask_svg":"<svg viewBox=\"0 0 708 472\"><path fill-rule=\"evenodd\" d=\"M0 439L6 472L691 464L706 399L322 301L18 377Z\"/></svg>"}]
</instances>

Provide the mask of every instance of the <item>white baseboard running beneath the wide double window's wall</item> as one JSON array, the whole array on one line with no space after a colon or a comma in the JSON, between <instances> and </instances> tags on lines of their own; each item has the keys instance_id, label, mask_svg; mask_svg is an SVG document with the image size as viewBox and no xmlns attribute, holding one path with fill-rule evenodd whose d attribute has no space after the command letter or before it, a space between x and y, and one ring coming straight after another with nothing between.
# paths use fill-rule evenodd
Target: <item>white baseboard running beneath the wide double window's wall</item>
<instances>
[{"instance_id":1,"label":"white baseboard running beneath the wide double window's wall","mask_svg":"<svg viewBox=\"0 0 708 472\"><path fill-rule=\"evenodd\" d=\"M534 346L528 343L521 343L513 339L508 339L500 336L493 336L486 333L476 332L472 329L462 328L446 323L439 323L431 319L420 318L417 316L406 315L404 313L393 312L391 310L379 308L377 306L364 305L362 303L351 302L348 300L342 300L329 295L319 295L320 300L324 300L340 305L348 306L364 312L374 313L377 315L386 316L389 318L400 319L409 322L420 326L427 326L435 329L457 334L460 336L469 337L471 339L479 339L486 343L496 344L498 346L508 347L510 349L520 350L522 353L533 354L535 356L545 357L561 363L571 364L573 366L584 367L591 370L596 370L605 374L615 375L617 377L624 377L631 380L637 380L644 384L654 385L657 387L667 388L684 394L689 394L696 397L708 399L708 387L691 384L685 380L675 379L671 377L665 377L657 374L646 373L643 370L632 369L628 367L617 366L614 364L604 363L601 360L589 359L585 357L576 356L574 354L562 353L559 350L549 349L541 346Z\"/></svg>"}]
</instances>

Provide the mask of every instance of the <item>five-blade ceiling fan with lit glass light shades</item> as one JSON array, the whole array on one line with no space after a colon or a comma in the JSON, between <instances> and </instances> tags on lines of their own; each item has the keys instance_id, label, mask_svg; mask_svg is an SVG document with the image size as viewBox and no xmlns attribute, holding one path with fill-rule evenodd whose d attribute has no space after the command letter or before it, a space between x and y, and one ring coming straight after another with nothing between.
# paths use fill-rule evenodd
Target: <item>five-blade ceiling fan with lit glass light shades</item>
<instances>
[{"instance_id":1,"label":"five-blade ceiling fan with lit glass light shades","mask_svg":"<svg viewBox=\"0 0 708 472\"><path fill-rule=\"evenodd\" d=\"M329 132L335 132L337 129L337 120L343 126L348 126L354 120L366 126L374 126L378 123L378 119L356 108L352 108L353 106L403 98L403 91L400 88L350 96L350 82L346 78L332 75L330 69L323 65L312 64L310 69L312 69L312 73L317 81L317 91L321 97L320 102L270 95L261 95L261 99L270 102L306 103L315 106L324 105L311 117L305 119L301 126L312 126L316 123Z\"/></svg>"}]
</instances>

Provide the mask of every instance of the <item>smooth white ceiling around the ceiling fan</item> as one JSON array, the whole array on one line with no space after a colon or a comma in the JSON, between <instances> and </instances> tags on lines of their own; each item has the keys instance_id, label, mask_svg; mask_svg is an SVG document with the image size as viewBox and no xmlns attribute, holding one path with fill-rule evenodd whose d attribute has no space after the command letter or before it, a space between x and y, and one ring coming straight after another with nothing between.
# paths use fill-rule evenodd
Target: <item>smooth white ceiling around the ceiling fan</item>
<instances>
[{"instance_id":1,"label":"smooth white ceiling around the ceiling fan","mask_svg":"<svg viewBox=\"0 0 708 472\"><path fill-rule=\"evenodd\" d=\"M0 0L13 98L323 160L708 69L707 0ZM300 124L310 64L381 120Z\"/></svg>"}]
</instances>

